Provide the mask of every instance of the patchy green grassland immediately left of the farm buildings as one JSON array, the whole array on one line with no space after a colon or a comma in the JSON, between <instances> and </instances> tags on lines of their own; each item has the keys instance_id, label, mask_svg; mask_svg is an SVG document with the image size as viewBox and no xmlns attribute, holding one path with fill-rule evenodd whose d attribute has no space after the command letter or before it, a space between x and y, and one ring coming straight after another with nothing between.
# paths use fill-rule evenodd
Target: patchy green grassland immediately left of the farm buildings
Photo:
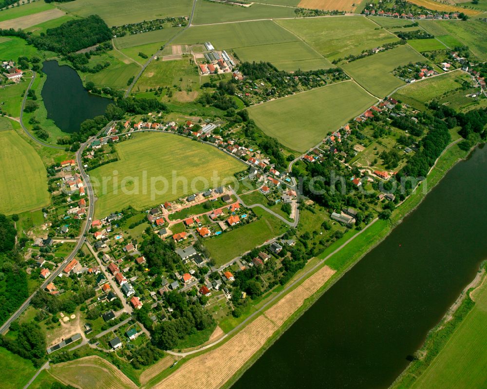
<instances>
[{"instance_id":1,"label":"patchy green grassland immediately left of the farm buildings","mask_svg":"<svg viewBox=\"0 0 487 389\"><path fill-rule=\"evenodd\" d=\"M180 81L180 79L183 79ZM145 92L150 88L178 85L183 90L194 90L200 86L196 65L185 57L174 61L152 61L138 79L133 92Z\"/></svg>"}]
</instances>

